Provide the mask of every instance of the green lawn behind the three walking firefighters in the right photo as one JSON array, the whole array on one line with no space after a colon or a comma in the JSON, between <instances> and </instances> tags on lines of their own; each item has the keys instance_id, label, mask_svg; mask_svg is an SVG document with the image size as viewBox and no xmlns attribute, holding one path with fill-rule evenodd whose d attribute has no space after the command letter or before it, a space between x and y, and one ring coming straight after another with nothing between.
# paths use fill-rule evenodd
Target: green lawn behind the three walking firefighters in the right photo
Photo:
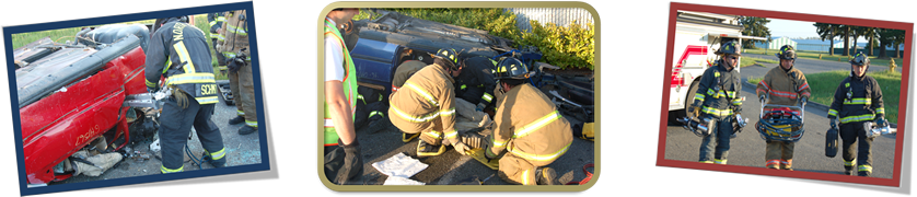
<instances>
[{"instance_id":1,"label":"green lawn behind the three walking firefighters in the right photo","mask_svg":"<svg viewBox=\"0 0 917 197\"><path fill-rule=\"evenodd\" d=\"M840 85L850 72L847 70L819 72L805 74L809 85L812 89L812 97L810 101L831 106L834 101L834 91ZM899 72L868 72L867 76L875 78L879 86L882 88L882 100L885 105L885 119L890 123L897 123L898 116L898 95L901 94L901 73ZM748 82L752 78L748 79ZM761 81L761 79L757 79ZM757 82L753 83L756 84Z\"/></svg>"}]
</instances>

